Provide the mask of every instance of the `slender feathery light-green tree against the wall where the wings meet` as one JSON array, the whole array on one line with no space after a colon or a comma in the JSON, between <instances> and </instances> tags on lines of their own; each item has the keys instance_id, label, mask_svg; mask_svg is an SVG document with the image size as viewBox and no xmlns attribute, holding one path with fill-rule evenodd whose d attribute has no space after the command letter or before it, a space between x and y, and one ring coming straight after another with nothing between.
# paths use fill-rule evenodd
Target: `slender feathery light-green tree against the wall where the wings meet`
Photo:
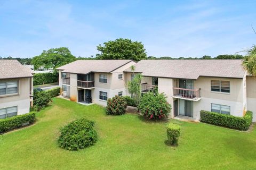
<instances>
[{"instance_id":1,"label":"slender feathery light-green tree against the wall where the wings meet","mask_svg":"<svg viewBox=\"0 0 256 170\"><path fill-rule=\"evenodd\" d=\"M131 96L135 98L138 106L141 98L142 75L134 73L134 70L135 70L134 65L131 66L131 70L133 71L133 79L131 81L128 81L128 91L131 94Z\"/></svg>"}]
</instances>

